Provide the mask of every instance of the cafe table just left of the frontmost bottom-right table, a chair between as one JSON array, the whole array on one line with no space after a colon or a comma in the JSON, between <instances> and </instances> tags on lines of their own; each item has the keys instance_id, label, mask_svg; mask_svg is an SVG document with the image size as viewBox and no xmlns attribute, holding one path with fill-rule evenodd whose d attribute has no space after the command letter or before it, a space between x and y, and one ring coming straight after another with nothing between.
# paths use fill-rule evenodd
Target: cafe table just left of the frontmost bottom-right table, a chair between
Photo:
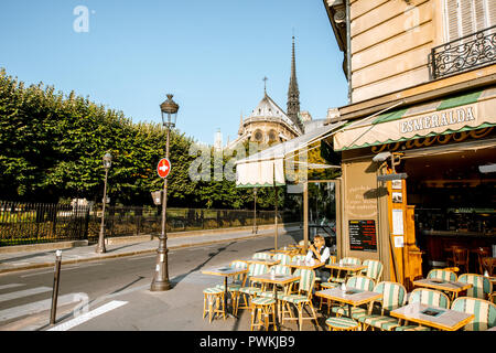
<instances>
[{"instance_id":1,"label":"cafe table just left of the frontmost bottom-right table, a chair between","mask_svg":"<svg viewBox=\"0 0 496 353\"><path fill-rule=\"evenodd\" d=\"M345 290L342 287L324 289L316 291L315 296L347 304L349 318L352 318L352 307L358 307L365 303L370 304L382 298L382 293L353 287L346 287Z\"/></svg>"}]
</instances>

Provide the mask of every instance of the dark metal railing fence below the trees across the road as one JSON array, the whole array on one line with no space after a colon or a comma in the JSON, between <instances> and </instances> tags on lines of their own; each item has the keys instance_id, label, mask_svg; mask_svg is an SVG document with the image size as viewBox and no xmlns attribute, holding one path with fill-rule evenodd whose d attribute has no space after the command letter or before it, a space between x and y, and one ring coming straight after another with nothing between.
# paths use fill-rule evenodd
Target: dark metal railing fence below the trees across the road
<instances>
[{"instance_id":1,"label":"dark metal railing fence below the trees across the road","mask_svg":"<svg viewBox=\"0 0 496 353\"><path fill-rule=\"evenodd\" d=\"M106 237L158 235L160 206L106 206ZM274 211L257 211L257 225L272 224ZM301 222L301 212L280 211L278 223ZM101 206L0 201L0 246L62 240L96 243ZM215 229L254 225L250 210L172 208L166 211L168 232Z\"/></svg>"}]
</instances>

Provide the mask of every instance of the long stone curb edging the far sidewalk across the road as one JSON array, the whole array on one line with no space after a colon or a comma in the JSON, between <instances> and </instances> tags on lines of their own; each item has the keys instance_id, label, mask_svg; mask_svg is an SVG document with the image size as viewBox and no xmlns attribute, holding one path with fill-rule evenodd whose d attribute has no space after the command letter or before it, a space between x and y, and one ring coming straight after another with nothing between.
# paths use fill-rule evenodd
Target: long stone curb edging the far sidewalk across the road
<instances>
[{"instance_id":1,"label":"long stone curb edging the far sidewalk across the road","mask_svg":"<svg viewBox=\"0 0 496 353\"><path fill-rule=\"evenodd\" d=\"M290 233L295 233L295 232L300 232L300 229L284 231L282 233L278 233L278 235L290 234ZM186 247L205 246L205 245L212 245L212 244L227 243L227 242L231 242L231 240L258 238L258 237L266 237L266 236L273 236L273 235L274 235L274 233L257 234L257 235L240 236L240 237L220 239L220 240L209 240L209 242L204 242L204 243L190 243L190 244L176 245L176 246L171 246L171 247L168 246L168 249L175 250L175 249L181 249L181 248L186 248ZM109 259L109 258L119 258L119 257L136 256L136 255L152 254L152 253L157 253L157 248L134 250L134 252L128 252L128 253L121 253L121 254L115 254L115 255L111 255L111 254L108 255L106 253L104 255L99 255L99 256L96 255L95 257L88 257L88 258L77 258L77 259L69 259L69 260L63 259L62 265L89 263L89 261L96 261L96 260L105 260L105 259ZM32 264L32 265L19 266L19 267L14 267L14 268L4 268L4 269L0 269L0 275L23 271L23 270L29 270L29 269L52 267L52 266L54 266L54 264L55 264L55 261Z\"/></svg>"}]
</instances>

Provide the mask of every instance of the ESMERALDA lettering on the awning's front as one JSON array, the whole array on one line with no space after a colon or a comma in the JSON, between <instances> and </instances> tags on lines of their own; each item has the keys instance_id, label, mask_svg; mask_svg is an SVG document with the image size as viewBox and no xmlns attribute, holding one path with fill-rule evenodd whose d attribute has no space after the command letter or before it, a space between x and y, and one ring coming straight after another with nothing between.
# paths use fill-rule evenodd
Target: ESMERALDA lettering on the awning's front
<instances>
[{"instance_id":1,"label":"ESMERALDA lettering on the awning's front","mask_svg":"<svg viewBox=\"0 0 496 353\"><path fill-rule=\"evenodd\" d=\"M471 120L475 120L473 107L457 108L400 121L400 131L401 133L414 132Z\"/></svg>"}]
</instances>

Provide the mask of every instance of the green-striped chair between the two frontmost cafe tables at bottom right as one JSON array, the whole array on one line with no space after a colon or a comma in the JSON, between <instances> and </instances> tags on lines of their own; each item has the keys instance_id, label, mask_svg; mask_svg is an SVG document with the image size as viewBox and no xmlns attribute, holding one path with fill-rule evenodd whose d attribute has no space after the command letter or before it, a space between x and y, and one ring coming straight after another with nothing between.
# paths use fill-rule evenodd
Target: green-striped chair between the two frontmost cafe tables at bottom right
<instances>
[{"instance_id":1,"label":"green-striped chair between the two frontmost cafe tables at bottom right","mask_svg":"<svg viewBox=\"0 0 496 353\"><path fill-rule=\"evenodd\" d=\"M382 293L380 313L370 313L373 309L373 304L370 304L370 310L367 313L355 313L355 319L362 322L364 330L367 330L369 327L385 331L395 330L400 324L397 319L391 318L388 313L405 306L407 289L397 282L382 281L376 285L374 291ZM353 313L352 318L354 318Z\"/></svg>"}]
</instances>

